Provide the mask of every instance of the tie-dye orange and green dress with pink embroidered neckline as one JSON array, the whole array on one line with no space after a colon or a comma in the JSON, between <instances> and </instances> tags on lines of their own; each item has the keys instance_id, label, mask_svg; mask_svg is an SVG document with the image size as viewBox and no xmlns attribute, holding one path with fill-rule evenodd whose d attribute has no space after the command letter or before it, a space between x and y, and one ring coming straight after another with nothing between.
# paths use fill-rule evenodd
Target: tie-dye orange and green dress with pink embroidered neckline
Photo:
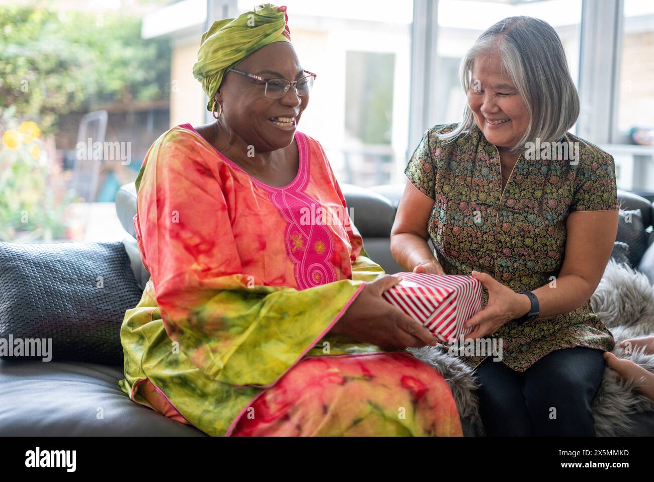
<instances>
[{"instance_id":1,"label":"tie-dye orange and green dress with pink embroidered neckline","mask_svg":"<svg viewBox=\"0 0 654 482\"><path fill-rule=\"evenodd\" d=\"M190 124L150 147L134 225L151 278L121 329L133 401L214 436L461 436L447 382L407 350L330 335L368 258L320 144L249 176Z\"/></svg>"}]
</instances>

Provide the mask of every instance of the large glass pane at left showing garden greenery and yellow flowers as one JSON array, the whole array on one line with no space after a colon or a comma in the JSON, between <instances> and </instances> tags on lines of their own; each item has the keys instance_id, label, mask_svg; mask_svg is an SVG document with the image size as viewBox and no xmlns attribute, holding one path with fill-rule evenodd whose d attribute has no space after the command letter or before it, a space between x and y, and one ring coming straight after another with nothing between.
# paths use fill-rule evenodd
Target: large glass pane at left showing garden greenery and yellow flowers
<instances>
[{"instance_id":1,"label":"large glass pane at left showing garden greenery and yellow flowers","mask_svg":"<svg viewBox=\"0 0 654 482\"><path fill-rule=\"evenodd\" d=\"M142 32L162 5L1 2L0 241L124 238L116 193L169 127L169 40Z\"/></svg>"}]
</instances>

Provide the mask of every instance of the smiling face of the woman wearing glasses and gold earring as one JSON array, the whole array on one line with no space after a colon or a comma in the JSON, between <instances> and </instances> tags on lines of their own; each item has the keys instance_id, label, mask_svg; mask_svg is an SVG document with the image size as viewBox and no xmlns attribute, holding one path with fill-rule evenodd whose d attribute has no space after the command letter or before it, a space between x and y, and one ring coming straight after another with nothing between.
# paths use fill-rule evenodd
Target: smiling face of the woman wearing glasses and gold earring
<instances>
[{"instance_id":1,"label":"smiling face of the woman wearing glasses and gold earring","mask_svg":"<svg viewBox=\"0 0 654 482\"><path fill-rule=\"evenodd\" d=\"M234 68L264 79L296 81L307 75L293 46L287 42L266 45ZM259 152L288 146L309 103L309 94L298 96L292 87L279 99L267 98L264 89L262 82L228 72L215 96L223 109L218 122Z\"/></svg>"}]
</instances>

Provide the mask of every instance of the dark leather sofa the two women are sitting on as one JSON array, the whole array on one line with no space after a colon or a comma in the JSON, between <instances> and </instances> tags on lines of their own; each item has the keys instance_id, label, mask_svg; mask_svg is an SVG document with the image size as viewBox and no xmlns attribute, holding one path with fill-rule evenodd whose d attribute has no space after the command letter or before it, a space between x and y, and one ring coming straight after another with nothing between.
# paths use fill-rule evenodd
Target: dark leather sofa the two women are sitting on
<instances>
[{"instance_id":1,"label":"dark leather sofa the two women are sitting on","mask_svg":"<svg viewBox=\"0 0 654 482\"><path fill-rule=\"evenodd\" d=\"M404 186L364 189L343 184L341 188L370 257L388 273L402 270L390 254L389 234ZM620 192L619 197L625 203L623 208L642 210L651 244L652 204L630 193ZM133 272L145 286L149 275L133 238L135 201L134 185L122 187L116 196L116 212L129 233L124 244ZM122 377L120 366L0 360L0 436L205 435L131 401L118 387ZM634 415L636 424L628 435L652 435L651 418L646 413ZM473 435L463 422L464 434Z\"/></svg>"}]
</instances>

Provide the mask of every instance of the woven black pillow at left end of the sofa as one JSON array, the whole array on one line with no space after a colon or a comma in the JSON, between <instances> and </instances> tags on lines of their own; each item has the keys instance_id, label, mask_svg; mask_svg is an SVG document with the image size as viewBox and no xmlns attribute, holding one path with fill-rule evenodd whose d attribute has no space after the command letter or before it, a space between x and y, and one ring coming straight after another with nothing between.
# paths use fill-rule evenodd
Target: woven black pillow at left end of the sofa
<instances>
[{"instance_id":1,"label":"woven black pillow at left end of the sofa","mask_svg":"<svg viewBox=\"0 0 654 482\"><path fill-rule=\"evenodd\" d=\"M142 293L121 242L0 242L0 343L14 346L0 358L29 359L20 343L52 339L52 361L122 365L120 325Z\"/></svg>"}]
</instances>

